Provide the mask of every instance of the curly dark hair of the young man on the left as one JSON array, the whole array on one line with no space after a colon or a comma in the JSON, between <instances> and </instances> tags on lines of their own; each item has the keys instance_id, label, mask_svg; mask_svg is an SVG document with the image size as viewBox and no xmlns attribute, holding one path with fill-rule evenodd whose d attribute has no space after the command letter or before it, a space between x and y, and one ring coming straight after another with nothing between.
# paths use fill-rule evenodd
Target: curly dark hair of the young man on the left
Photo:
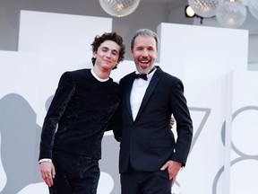
<instances>
[{"instance_id":1,"label":"curly dark hair of the young man on the left","mask_svg":"<svg viewBox=\"0 0 258 194\"><path fill-rule=\"evenodd\" d=\"M115 41L116 44L120 46L118 63L123 61L125 58L125 44L123 43L123 38L119 36L116 32L105 32L101 36L97 35L94 41L92 42L92 44L90 44L92 51L97 52L99 46L106 40ZM91 62L93 66L95 65L95 61L96 61L96 58L92 57Z\"/></svg>"}]
</instances>

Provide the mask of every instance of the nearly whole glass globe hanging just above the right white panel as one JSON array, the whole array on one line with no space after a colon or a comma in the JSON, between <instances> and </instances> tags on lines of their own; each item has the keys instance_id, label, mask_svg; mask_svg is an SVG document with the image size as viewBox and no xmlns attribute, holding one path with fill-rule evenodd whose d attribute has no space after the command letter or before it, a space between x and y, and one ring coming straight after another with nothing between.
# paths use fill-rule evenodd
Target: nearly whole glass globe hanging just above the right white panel
<instances>
[{"instance_id":1,"label":"nearly whole glass globe hanging just above the right white panel","mask_svg":"<svg viewBox=\"0 0 258 194\"><path fill-rule=\"evenodd\" d=\"M246 19L246 7L239 0L223 0L216 12L217 21L223 27L238 28Z\"/></svg>"}]
</instances>

